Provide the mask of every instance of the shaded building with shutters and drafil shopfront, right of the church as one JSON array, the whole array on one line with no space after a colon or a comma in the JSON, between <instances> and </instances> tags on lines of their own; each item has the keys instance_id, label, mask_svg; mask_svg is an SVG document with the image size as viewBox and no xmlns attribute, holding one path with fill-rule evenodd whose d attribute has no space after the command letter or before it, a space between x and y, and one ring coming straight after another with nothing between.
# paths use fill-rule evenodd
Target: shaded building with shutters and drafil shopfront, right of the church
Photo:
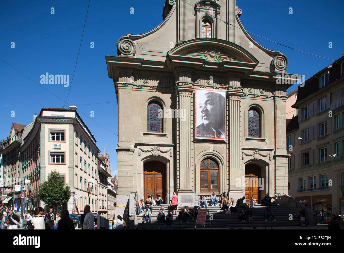
<instances>
[{"instance_id":1,"label":"shaded building with shutters and drafil shopfront, right of the church","mask_svg":"<svg viewBox=\"0 0 344 253\"><path fill-rule=\"evenodd\" d=\"M297 94L287 126L289 195L315 212L344 214L344 56Z\"/></svg>"}]
</instances>

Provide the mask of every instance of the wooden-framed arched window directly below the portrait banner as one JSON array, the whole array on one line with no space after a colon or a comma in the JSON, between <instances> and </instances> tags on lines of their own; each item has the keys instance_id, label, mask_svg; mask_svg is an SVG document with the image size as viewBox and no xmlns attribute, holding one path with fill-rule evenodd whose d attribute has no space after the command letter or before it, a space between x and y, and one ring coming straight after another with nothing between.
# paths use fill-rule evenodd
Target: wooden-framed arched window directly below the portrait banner
<instances>
[{"instance_id":1,"label":"wooden-framed arched window directly below the portrait banner","mask_svg":"<svg viewBox=\"0 0 344 253\"><path fill-rule=\"evenodd\" d=\"M205 159L201 163L201 192L218 192L218 165L212 159Z\"/></svg>"}]
</instances>

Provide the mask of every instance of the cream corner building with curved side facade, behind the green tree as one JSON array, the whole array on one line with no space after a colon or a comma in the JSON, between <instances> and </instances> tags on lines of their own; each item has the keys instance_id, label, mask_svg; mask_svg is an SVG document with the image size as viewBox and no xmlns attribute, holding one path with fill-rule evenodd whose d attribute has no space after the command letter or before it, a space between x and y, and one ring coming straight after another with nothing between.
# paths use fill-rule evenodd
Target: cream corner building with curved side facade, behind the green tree
<instances>
[{"instance_id":1,"label":"cream corner building with curved side facade, behind the green tree","mask_svg":"<svg viewBox=\"0 0 344 253\"><path fill-rule=\"evenodd\" d=\"M15 180L21 183L29 179L30 183L22 183L24 206L44 207L39 187L56 169L71 187L71 198L64 208L69 212L76 208L82 213L89 204L91 211L97 213L99 149L76 108L43 108L39 115L34 115L31 124L19 128L18 124L12 125L8 149L1 151L8 154L9 159L6 177L10 184L6 187L17 184Z\"/></svg>"}]
</instances>

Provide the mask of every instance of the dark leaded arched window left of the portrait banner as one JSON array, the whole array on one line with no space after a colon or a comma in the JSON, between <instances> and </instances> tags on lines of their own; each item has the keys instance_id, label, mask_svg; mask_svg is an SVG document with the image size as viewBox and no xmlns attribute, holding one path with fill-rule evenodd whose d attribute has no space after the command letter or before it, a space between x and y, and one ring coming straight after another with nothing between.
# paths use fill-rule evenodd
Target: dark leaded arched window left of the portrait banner
<instances>
[{"instance_id":1,"label":"dark leaded arched window left of the portrait banner","mask_svg":"<svg viewBox=\"0 0 344 253\"><path fill-rule=\"evenodd\" d=\"M147 131L162 133L162 106L157 101L151 101L147 106Z\"/></svg>"}]
</instances>

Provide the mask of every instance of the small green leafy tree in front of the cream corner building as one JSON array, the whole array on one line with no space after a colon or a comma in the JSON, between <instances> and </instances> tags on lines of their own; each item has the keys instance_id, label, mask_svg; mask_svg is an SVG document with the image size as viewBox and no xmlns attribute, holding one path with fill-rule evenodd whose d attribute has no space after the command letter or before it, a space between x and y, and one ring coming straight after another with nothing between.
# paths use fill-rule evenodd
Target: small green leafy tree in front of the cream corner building
<instances>
[{"instance_id":1,"label":"small green leafy tree in front of the cream corner building","mask_svg":"<svg viewBox=\"0 0 344 253\"><path fill-rule=\"evenodd\" d=\"M63 207L71 197L71 189L64 185L63 179L58 177L60 172L51 171L48 180L41 184L39 193L41 200L49 206Z\"/></svg>"}]
</instances>

